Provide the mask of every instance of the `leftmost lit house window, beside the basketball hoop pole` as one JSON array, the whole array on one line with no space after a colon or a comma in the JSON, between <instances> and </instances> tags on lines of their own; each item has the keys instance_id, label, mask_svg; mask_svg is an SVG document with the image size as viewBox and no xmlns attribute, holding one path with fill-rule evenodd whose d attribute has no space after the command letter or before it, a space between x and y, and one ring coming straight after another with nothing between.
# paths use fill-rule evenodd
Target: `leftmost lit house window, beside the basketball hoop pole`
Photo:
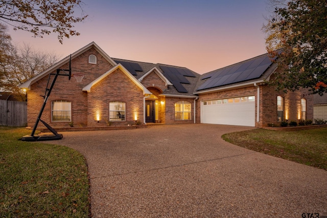
<instances>
[{"instance_id":1,"label":"leftmost lit house window, beside the basketball hoop pole","mask_svg":"<svg viewBox=\"0 0 327 218\"><path fill-rule=\"evenodd\" d=\"M52 122L71 122L72 103L66 101L54 101L51 107Z\"/></svg>"}]
</instances>

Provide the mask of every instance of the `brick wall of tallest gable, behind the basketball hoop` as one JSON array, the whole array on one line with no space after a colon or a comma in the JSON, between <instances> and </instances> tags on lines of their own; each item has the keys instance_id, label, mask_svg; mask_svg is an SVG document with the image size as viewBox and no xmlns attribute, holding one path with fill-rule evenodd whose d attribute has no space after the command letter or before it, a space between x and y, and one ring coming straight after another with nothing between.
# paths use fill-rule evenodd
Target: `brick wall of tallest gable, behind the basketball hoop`
<instances>
[{"instance_id":1,"label":"brick wall of tallest gable, behind the basketball hoop","mask_svg":"<svg viewBox=\"0 0 327 218\"><path fill-rule=\"evenodd\" d=\"M97 57L97 64L89 64L88 56L94 54ZM72 120L74 126L87 126L87 93L82 88L91 81L104 74L112 67L94 48L89 49L80 56L72 60L72 74L82 73L84 78L81 83L77 83L74 77L68 80L68 77L58 76L55 86L51 92L50 98L45 106L41 119L52 127L68 127L69 122L51 122L51 102L57 100L72 102ZM61 69L67 69L68 64L60 66ZM55 73L53 71L52 73ZM64 74L64 72L62 72ZM43 98L46 84L49 76L46 75L36 83L31 85L28 94L28 126L33 127L37 115L43 104ZM52 81L52 79L51 79ZM50 82L51 83L51 82ZM49 86L50 87L50 86ZM42 127L39 124L39 127Z\"/></svg>"}]
</instances>

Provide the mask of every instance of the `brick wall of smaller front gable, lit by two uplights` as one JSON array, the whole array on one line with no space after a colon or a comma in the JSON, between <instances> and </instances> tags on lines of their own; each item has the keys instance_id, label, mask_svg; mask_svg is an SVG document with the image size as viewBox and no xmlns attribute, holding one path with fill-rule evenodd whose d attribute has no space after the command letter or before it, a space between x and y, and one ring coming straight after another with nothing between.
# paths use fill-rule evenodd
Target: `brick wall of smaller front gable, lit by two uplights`
<instances>
[{"instance_id":1,"label":"brick wall of smaller front gable, lit by two uplights","mask_svg":"<svg viewBox=\"0 0 327 218\"><path fill-rule=\"evenodd\" d=\"M135 116L143 122L143 90L139 88L124 72L116 69L106 78L92 86L87 96L88 127L107 126L109 120L109 102L126 103L125 122L112 122L113 126L133 125ZM100 116L99 123L97 115Z\"/></svg>"}]
</instances>

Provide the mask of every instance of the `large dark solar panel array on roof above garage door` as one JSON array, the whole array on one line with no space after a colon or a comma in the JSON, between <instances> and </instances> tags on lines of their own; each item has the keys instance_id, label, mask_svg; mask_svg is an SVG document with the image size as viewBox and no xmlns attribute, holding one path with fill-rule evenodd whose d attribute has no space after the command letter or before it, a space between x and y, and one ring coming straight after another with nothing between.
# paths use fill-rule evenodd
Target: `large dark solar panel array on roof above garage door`
<instances>
[{"instance_id":1,"label":"large dark solar panel array on roof above garage door","mask_svg":"<svg viewBox=\"0 0 327 218\"><path fill-rule=\"evenodd\" d=\"M197 90L259 78L271 64L272 62L270 58L265 54L243 61L242 63L215 70L202 78L202 80L208 80L205 81Z\"/></svg>"}]
</instances>

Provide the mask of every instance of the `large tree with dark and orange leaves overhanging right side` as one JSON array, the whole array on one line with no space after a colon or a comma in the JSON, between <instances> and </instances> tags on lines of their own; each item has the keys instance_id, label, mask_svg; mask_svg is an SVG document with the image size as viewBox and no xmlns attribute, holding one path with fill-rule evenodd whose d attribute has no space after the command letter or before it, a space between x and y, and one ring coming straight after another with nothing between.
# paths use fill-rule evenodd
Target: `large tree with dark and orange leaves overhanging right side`
<instances>
[{"instance_id":1,"label":"large tree with dark and orange leaves overhanging right side","mask_svg":"<svg viewBox=\"0 0 327 218\"><path fill-rule=\"evenodd\" d=\"M278 5L263 30L267 51L282 70L270 83L285 92L303 87L322 95L327 92L327 1L271 2Z\"/></svg>"}]
</instances>

